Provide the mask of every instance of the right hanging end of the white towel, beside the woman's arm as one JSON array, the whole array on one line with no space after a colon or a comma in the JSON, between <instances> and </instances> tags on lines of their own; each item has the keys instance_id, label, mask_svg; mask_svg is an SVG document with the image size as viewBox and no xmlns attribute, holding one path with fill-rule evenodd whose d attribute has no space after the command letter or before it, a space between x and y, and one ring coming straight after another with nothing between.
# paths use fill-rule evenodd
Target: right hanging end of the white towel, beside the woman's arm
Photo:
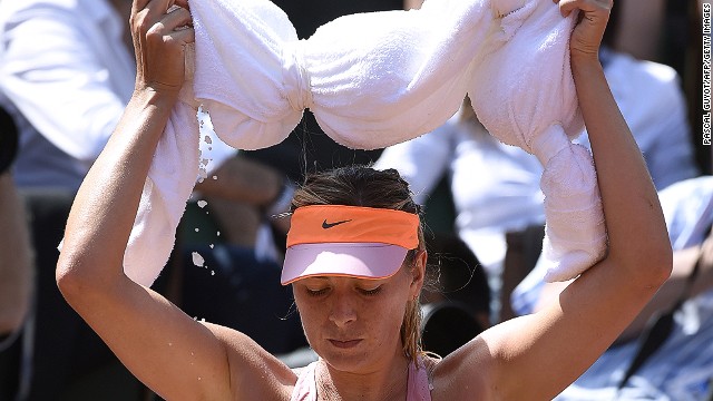
<instances>
[{"instance_id":1,"label":"right hanging end of the white towel, beside the woman's arm","mask_svg":"<svg viewBox=\"0 0 713 401\"><path fill-rule=\"evenodd\" d=\"M570 141L584 129L569 68L575 18L530 1L488 35L473 68L471 104L499 140L537 156L545 170L546 281L574 278L606 252L594 162Z\"/></svg>"}]
</instances>

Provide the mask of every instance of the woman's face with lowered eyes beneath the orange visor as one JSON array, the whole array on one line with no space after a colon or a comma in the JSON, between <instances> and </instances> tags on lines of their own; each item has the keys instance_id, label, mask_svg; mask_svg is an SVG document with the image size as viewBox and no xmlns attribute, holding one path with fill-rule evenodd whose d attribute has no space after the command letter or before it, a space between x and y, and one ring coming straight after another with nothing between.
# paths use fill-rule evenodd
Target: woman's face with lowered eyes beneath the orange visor
<instances>
[{"instance_id":1,"label":"woman's face with lowered eyes beneath the orange visor","mask_svg":"<svg viewBox=\"0 0 713 401\"><path fill-rule=\"evenodd\" d=\"M418 265L384 280L315 276L293 284L307 341L331 371L368 374L406 365L400 330L407 302L423 284L422 261Z\"/></svg>"}]
</instances>

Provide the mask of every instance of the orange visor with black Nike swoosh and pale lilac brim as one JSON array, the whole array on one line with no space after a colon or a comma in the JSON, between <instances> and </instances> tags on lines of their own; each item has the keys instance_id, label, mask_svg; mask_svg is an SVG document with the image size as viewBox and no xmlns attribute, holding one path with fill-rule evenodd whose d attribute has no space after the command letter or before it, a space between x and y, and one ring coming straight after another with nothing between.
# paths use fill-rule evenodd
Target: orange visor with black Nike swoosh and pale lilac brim
<instances>
[{"instance_id":1,"label":"orange visor with black Nike swoosh and pale lilac brim","mask_svg":"<svg viewBox=\"0 0 713 401\"><path fill-rule=\"evenodd\" d=\"M282 284L307 276L385 278L419 245L419 216L385 208L311 205L292 215Z\"/></svg>"}]
</instances>

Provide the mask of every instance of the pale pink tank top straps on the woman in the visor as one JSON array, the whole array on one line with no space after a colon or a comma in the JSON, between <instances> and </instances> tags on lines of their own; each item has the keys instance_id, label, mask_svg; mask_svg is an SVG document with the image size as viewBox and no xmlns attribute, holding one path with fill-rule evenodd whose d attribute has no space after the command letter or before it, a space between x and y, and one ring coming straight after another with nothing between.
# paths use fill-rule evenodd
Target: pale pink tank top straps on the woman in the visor
<instances>
[{"instance_id":1,"label":"pale pink tank top straps on the woman in the visor","mask_svg":"<svg viewBox=\"0 0 713 401\"><path fill-rule=\"evenodd\" d=\"M319 362L312 362L300 373L290 401L316 401L316 378L314 370ZM407 401L431 401L431 384L426 368L409 364Z\"/></svg>"}]
</instances>

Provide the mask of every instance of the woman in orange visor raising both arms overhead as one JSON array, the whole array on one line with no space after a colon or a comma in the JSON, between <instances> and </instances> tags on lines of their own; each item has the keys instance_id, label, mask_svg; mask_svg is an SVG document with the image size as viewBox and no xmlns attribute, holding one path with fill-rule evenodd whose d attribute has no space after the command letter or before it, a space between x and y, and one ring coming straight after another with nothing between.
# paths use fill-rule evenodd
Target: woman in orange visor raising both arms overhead
<instances>
[{"instance_id":1,"label":"woman in orange visor raising both arms overhead","mask_svg":"<svg viewBox=\"0 0 713 401\"><path fill-rule=\"evenodd\" d=\"M293 202L294 254L286 257L283 282L293 283L319 362L299 376L245 335L194 321L121 268L154 148L184 81L183 48L193 41L192 29L176 29L189 22L188 11L166 13L170 3L134 1L136 89L77 196L57 271L68 302L165 399L551 399L607 349L668 276L671 247L656 193L597 59L611 2L561 0L564 14L584 13L573 32L572 67L599 175L609 252L557 302L491 327L440 361L422 356L411 329L426 261L414 206L392 173L354 169L309 180ZM360 236L350 228L355 218L392 224ZM346 253L336 253L339 264L329 255L326 263L305 262L314 248L344 247L325 243L333 237L321 231L342 231L338 236L360 257L342 264ZM391 245L368 248L385 241Z\"/></svg>"}]
</instances>

